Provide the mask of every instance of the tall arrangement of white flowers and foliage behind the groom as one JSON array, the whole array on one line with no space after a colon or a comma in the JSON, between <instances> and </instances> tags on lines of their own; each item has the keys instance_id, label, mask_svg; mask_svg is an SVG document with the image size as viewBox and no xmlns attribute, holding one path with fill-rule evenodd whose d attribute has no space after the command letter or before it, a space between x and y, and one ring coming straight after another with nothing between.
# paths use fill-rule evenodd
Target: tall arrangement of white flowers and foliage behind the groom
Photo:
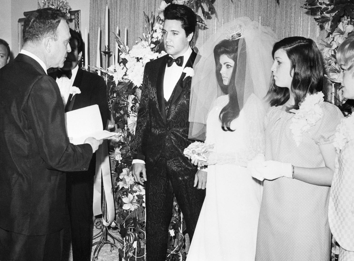
<instances>
[{"instance_id":1,"label":"tall arrangement of white flowers and foliage behind the groom","mask_svg":"<svg viewBox=\"0 0 354 261\"><path fill-rule=\"evenodd\" d=\"M107 69L91 66L101 70L107 76L109 107L117 128L115 132L119 132L119 135L111 141L110 157L115 162L116 223L125 242L120 255L126 260L131 257L134 260L145 259L145 190L143 186L134 182L132 177L130 152L130 146L135 138L144 66L147 62L166 54L161 44L163 11L166 6L171 3L183 4L192 8L195 13L200 9L203 18L208 19L211 15L216 15L214 2L215 0L162 1L156 16L153 13L147 15L144 12L144 32L131 49L116 35L121 59L119 63ZM205 26L203 18L197 14L197 22L202 28ZM193 73L193 69L186 71L188 76L193 76ZM170 223L171 237L167 260L185 260L185 235L183 234L185 225L182 216L175 201Z\"/></svg>"}]
</instances>

